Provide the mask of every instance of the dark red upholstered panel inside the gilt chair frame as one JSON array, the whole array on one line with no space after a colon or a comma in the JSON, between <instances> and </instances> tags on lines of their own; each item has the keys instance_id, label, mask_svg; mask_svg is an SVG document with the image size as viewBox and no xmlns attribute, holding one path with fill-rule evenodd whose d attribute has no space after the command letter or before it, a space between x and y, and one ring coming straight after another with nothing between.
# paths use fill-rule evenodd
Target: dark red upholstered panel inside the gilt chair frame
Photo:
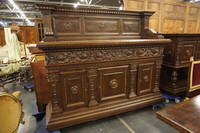
<instances>
[{"instance_id":1,"label":"dark red upholstered panel inside the gilt chair frame","mask_svg":"<svg viewBox=\"0 0 200 133\"><path fill-rule=\"evenodd\" d=\"M192 86L200 85L200 63L194 64L192 75Z\"/></svg>"}]
</instances>

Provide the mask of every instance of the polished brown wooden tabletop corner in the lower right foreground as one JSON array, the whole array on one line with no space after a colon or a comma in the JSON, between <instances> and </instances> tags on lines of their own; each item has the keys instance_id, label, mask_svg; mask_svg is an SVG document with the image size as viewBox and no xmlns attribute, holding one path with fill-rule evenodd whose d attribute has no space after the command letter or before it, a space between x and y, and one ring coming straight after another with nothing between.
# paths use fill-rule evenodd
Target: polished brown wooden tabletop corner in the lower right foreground
<instances>
[{"instance_id":1,"label":"polished brown wooden tabletop corner in the lower right foreground","mask_svg":"<svg viewBox=\"0 0 200 133\"><path fill-rule=\"evenodd\" d=\"M156 117L184 133L200 132L200 95L156 112Z\"/></svg>"}]
</instances>

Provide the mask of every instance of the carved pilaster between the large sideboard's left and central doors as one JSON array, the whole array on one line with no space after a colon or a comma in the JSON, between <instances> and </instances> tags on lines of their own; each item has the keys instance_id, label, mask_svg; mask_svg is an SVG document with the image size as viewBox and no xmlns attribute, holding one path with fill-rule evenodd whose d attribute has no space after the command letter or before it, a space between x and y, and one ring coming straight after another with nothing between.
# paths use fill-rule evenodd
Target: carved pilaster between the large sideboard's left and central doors
<instances>
[{"instance_id":1,"label":"carved pilaster between the large sideboard's left and central doors","mask_svg":"<svg viewBox=\"0 0 200 133\"><path fill-rule=\"evenodd\" d=\"M90 101L88 106L93 107L97 105L97 101L95 100L95 89L96 87L96 77L97 77L97 70L94 68L88 69L88 80L89 80L89 91L90 91Z\"/></svg>"}]
</instances>

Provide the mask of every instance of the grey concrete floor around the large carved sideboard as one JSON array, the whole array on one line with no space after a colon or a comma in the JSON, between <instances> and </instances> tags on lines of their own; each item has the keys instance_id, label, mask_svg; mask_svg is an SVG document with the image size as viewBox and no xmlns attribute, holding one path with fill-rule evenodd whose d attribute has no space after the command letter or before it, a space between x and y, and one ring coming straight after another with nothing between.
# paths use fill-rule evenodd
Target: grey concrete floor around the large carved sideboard
<instances>
[{"instance_id":1,"label":"grey concrete floor around the large carved sideboard","mask_svg":"<svg viewBox=\"0 0 200 133\"><path fill-rule=\"evenodd\" d=\"M9 93L21 91L21 100L23 102L23 111L25 113L25 124L20 124L17 133L34 133L40 122L37 122L32 114L37 113L35 105L35 92L29 92L19 83L7 84ZM0 91L2 89L0 88ZM170 101L167 106L175 104ZM159 109L158 109L159 110ZM166 123L156 118L152 106L142 109L126 112L117 116L107 117L84 124L60 129L61 133L178 133L177 130L168 126ZM44 133L44 132L41 132Z\"/></svg>"}]
</instances>

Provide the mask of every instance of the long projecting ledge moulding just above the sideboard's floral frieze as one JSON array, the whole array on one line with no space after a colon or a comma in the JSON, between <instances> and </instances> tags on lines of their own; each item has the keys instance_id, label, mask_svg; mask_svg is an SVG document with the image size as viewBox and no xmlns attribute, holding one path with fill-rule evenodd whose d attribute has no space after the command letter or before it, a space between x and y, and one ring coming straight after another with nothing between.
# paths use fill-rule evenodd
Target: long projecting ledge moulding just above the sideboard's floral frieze
<instances>
[{"instance_id":1,"label":"long projecting ledge moulding just above the sideboard's floral frieze","mask_svg":"<svg viewBox=\"0 0 200 133\"><path fill-rule=\"evenodd\" d=\"M138 40L88 40L40 42L37 47L44 51L71 51L72 49L108 49L113 47L163 47L170 39L138 39Z\"/></svg>"}]
</instances>

